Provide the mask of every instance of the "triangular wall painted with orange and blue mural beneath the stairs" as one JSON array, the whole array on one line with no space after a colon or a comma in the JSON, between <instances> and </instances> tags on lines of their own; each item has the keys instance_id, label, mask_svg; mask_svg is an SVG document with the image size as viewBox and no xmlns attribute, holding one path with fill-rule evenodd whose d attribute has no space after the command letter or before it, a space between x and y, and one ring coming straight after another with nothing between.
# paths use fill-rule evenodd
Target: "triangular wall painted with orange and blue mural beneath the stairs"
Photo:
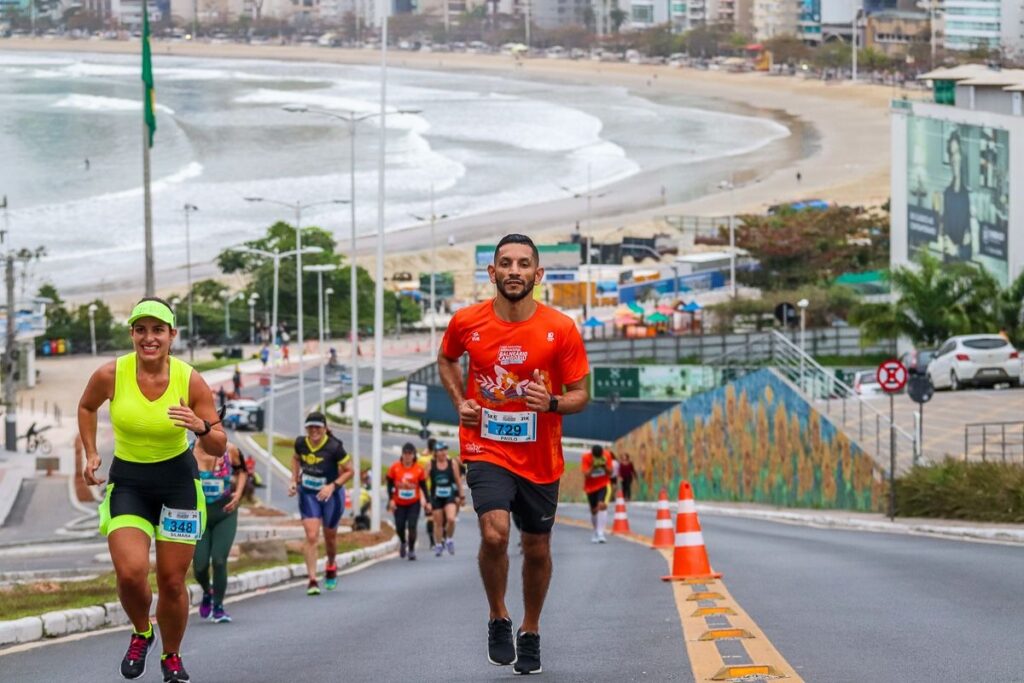
<instances>
[{"instance_id":1,"label":"triangular wall painted with orange and blue mural beneath the stairs","mask_svg":"<svg viewBox=\"0 0 1024 683\"><path fill-rule=\"evenodd\" d=\"M636 500L655 500L663 486L674 500L687 478L698 501L865 511L885 505L873 459L769 370L674 405L613 451L633 459ZM565 493L577 488L565 483Z\"/></svg>"}]
</instances>

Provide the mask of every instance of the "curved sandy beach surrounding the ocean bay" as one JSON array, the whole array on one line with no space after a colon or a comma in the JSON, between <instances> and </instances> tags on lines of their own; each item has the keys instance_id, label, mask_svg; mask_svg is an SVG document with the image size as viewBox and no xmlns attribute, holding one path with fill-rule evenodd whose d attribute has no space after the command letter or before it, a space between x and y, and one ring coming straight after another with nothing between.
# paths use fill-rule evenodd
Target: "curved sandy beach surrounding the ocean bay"
<instances>
[{"instance_id":1,"label":"curved sandy beach surrounding the ocean bay","mask_svg":"<svg viewBox=\"0 0 1024 683\"><path fill-rule=\"evenodd\" d=\"M133 53L138 46L132 42L10 39L0 41L0 49ZM379 53L373 50L163 42L154 44L154 54L157 58L169 54L359 65L374 65L380 60ZM904 95L923 96L921 91L758 73L730 74L589 60L531 58L517 61L503 55L394 51L390 53L389 65L404 69L488 73L522 80L616 85L628 88L633 94L651 98L685 94L710 100L726 111L760 112L781 121L793 131L785 144L773 144L738 158L742 169L734 172L735 189L731 191L718 188L721 173L716 174L710 168L707 170L707 194L667 206L660 202L659 183L671 183L672 178L641 175L628 181L624 188L616 188L608 198L594 201L591 230L597 238L667 231L666 216L761 212L771 204L810 197L841 204L881 205L889 197L889 102ZM457 296L467 297L472 291L475 244L490 243L497 236L512 229L531 232L544 242L565 239L575 221L583 217L581 214L579 202L565 200L446 221L438 226L438 243L445 244L452 236L456 247L438 248L438 262L455 271L459 284ZM426 229L389 232L387 272L427 269ZM358 260L371 269L373 249L372 239L360 241ZM159 289L164 293L180 292L181 271L183 268L158 272ZM195 274L209 276L215 274L215 269L212 265L209 268L201 266ZM232 286L240 284L231 283ZM104 298L116 309L127 308L130 300L137 296L134 290L115 293L108 289Z\"/></svg>"}]
</instances>

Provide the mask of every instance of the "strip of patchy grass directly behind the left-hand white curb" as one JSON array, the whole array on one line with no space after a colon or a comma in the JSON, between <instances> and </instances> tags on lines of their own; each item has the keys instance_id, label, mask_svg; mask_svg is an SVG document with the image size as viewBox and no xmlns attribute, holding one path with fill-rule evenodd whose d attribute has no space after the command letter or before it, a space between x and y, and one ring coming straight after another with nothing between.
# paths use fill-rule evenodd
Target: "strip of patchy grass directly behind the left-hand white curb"
<instances>
[{"instance_id":1,"label":"strip of patchy grass directly behind the left-hand white curb","mask_svg":"<svg viewBox=\"0 0 1024 683\"><path fill-rule=\"evenodd\" d=\"M353 531L338 538L338 552L346 553L359 548L374 546L383 543L391 538L394 531L391 527L382 528L379 533L369 531ZM303 560L301 552L301 542L298 546L291 545L288 548L288 563L296 564ZM319 554L324 556L324 544L321 544ZM280 562L267 560L255 560L251 558L240 558L228 564L228 573L239 574L244 571L255 569L268 569L270 567L282 566ZM196 583L191 571L187 575L188 583ZM156 592L157 577L150 572L150 586ZM38 616L44 612L58 609L75 609L78 607L89 607L99 605L104 602L117 602L117 580L113 571L106 571L94 579L86 581L45 581L32 584L18 584L0 588L0 621L22 618L24 616Z\"/></svg>"}]
</instances>

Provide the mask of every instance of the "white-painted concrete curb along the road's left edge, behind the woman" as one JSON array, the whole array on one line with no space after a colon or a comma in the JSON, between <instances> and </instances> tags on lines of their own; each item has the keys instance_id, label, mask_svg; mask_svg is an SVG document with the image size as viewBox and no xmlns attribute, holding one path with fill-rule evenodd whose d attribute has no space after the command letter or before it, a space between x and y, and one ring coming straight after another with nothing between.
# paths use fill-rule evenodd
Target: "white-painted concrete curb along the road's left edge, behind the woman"
<instances>
[{"instance_id":1,"label":"white-painted concrete curb along the road's left edge, behind the woman","mask_svg":"<svg viewBox=\"0 0 1024 683\"><path fill-rule=\"evenodd\" d=\"M370 548L342 553L337 558L338 568L343 569L359 562L377 559L397 549L398 539L393 538ZM322 558L317 569L323 570L326 563L327 560ZM306 565L303 563L245 571L228 577L227 595L252 593L306 575ZM202 597L202 589L195 584L188 584L189 604L198 605ZM156 614L156 611L157 600L154 599L152 613ZM0 622L0 646L57 638L109 627L127 626L128 623L128 615L125 614L119 602L46 612L39 616Z\"/></svg>"}]
</instances>

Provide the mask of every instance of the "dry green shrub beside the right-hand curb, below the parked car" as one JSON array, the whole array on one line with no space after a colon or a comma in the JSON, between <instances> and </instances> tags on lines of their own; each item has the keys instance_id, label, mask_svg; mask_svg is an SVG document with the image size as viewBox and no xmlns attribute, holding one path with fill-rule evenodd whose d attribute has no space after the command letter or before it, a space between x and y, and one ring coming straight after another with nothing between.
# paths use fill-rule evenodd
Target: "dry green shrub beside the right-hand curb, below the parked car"
<instances>
[{"instance_id":1,"label":"dry green shrub beside the right-hand curb, below the parked car","mask_svg":"<svg viewBox=\"0 0 1024 683\"><path fill-rule=\"evenodd\" d=\"M896 479L896 514L1024 522L1024 467L947 458Z\"/></svg>"}]
</instances>

